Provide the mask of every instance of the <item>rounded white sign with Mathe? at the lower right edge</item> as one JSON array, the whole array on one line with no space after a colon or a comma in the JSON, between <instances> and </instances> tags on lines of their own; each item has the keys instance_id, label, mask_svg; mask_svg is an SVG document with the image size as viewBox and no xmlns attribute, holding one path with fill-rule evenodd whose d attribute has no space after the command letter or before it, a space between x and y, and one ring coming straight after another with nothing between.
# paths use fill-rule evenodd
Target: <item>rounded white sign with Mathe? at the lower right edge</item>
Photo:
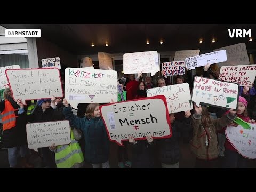
<instances>
[{"instance_id":1,"label":"rounded white sign with Mathe? at the lower right edge","mask_svg":"<svg viewBox=\"0 0 256 192\"><path fill-rule=\"evenodd\" d=\"M256 159L256 124L250 124L250 129L228 126L226 137L239 154L246 158Z\"/></svg>"}]
</instances>

